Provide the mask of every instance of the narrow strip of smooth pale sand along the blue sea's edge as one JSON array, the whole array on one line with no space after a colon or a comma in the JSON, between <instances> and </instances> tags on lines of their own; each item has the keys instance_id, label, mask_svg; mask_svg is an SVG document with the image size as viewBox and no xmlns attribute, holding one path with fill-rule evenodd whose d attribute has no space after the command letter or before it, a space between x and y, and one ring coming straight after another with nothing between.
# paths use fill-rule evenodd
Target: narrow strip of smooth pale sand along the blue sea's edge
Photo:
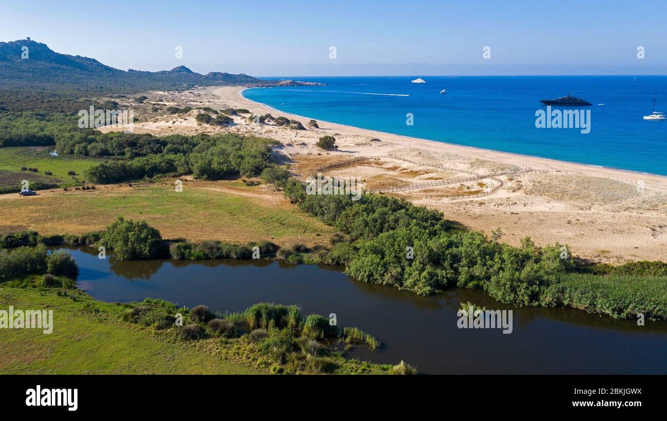
<instances>
[{"instance_id":1,"label":"narrow strip of smooth pale sand along the blue sea's edge","mask_svg":"<svg viewBox=\"0 0 667 421\"><path fill-rule=\"evenodd\" d=\"M247 86L241 86L241 85L235 85L233 87L215 87L213 88L213 91L215 94L219 95L222 97L223 100L229 101L229 94L228 94L228 89L231 88L235 91L237 98L241 100L241 103L250 103L259 107L263 107L265 109L269 109L271 111L281 113L281 115L284 115L285 117L290 117L294 119L305 119L309 120L311 117L307 117L304 115L298 115L298 114L293 114L293 113L288 113L285 111L282 111L280 109L277 109L275 107L271 107L271 105L267 105L264 103L260 103L257 101L253 101L252 99L248 99L245 96L243 96L243 91L246 89L251 89L251 87ZM239 89L240 88L240 89ZM224 95L221 95L221 91L224 91ZM307 121L306 121L307 122ZM588 163L580 163L580 162L575 162L575 161L562 161L560 159L553 159L553 158L546 158L546 157L538 157L534 155L523 155L521 153L514 153L514 152L505 152L505 151L498 151L496 149L486 149L482 147L476 147L476 146L469 146L469 145L459 145L457 143L447 143L447 142L442 142L442 141L437 141L433 139L422 139L420 137L412 137L412 136L407 136L407 135L399 135L396 133L390 133L386 131L378 131L378 130L373 130L373 129L364 129L362 127L356 127L352 125L346 125L342 123L333 123L331 121L325 121L325 120L317 120L318 123L325 123L327 126L333 126L335 127L342 127L347 129L348 131L354 132L354 135L364 135L364 133L373 133L373 134L378 134L383 137L389 136L392 139L394 137L398 139L404 139L405 140L410 140L410 141L415 141L416 143L412 144L404 144L403 146L407 147L420 147L418 143L424 142L424 145L430 145L432 147L435 147L435 149L440 149L437 150L438 152L450 152L450 153L456 153L458 155L464 155L467 157L471 158L478 158L478 159L489 159L491 161L500 161L502 163L510 164L510 165L520 165L520 166L526 166L525 164L527 163L528 166L532 167L533 169L549 169L552 171L571 171L571 172L580 172L582 175L586 175L586 173L598 173L602 175L607 175L605 178L617 178L619 181L634 181L637 183L638 181L645 181L646 185L650 185L649 183L646 183L646 179L652 179L651 181L654 181L655 184L651 185L652 187L657 187L659 189L667 189L667 175L660 175L660 174L654 174L654 173L647 173L647 172L642 172L642 171L635 171L632 169L622 169L622 168L615 168L615 167L607 167L604 165L594 165L594 164L588 164ZM302 121L303 123L303 121ZM383 140L384 141L384 140ZM428 143L426 143L428 142ZM404 142L401 142L404 143ZM458 150L457 150L458 149ZM459 153L462 152L462 153ZM465 153L468 152L468 153ZM511 159L512 161L508 161L508 159ZM524 164L517 163L517 161L525 161ZM541 161L541 162L540 162ZM622 177L622 175L625 175L626 177ZM596 175L600 176L600 175ZM629 178L629 179L628 179Z\"/></svg>"}]
</instances>

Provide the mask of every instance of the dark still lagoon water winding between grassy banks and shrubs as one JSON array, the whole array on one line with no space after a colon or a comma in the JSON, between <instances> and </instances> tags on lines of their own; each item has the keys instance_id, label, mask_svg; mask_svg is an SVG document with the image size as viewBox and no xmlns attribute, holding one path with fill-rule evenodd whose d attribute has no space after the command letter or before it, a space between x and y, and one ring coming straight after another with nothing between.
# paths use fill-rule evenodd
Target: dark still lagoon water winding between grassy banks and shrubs
<instances>
[{"instance_id":1,"label":"dark still lagoon water winding between grassy banks and shrubs","mask_svg":"<svg viewBox=\"0 0 667 421\"><path fill-rule=\"evenodd\" d=\"M297 304L303 314L335 313L338 326L356 326L383 343L348 356L396 364L427 374L667 374L667 324L613 320L573 309L515 308L478 290L452 289L420 297L364 284L338 266L281 262L97 258L96 248L66 248L81 268L79 287L106 302L162 298L215 312L257 302ZM512 334L460 329L460 302L513 310Z\"/></svg>"}]
</instances>

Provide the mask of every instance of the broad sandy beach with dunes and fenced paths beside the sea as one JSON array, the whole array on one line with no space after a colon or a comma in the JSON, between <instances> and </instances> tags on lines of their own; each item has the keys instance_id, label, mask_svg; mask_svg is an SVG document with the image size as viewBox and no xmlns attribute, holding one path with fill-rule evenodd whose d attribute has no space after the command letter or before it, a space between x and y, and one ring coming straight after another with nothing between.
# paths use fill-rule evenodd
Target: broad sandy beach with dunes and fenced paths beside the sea
<instances>
[{"instance_id":1,"label":"broad sandy beach with dunes and fenced paths beside the sea","mask_svg":"<svg viewBox=\"0 0 667 421\"><path fill-rule=\"evenodd\" d=\"M135 133L195 134L233 132L269 137L281 144L274 160L289 163L298 177L321 169L323 175L359 177L370 190L444 212L446 218L514 246L530 236L536 244L567 244L572 253L596 262L667 261L667 177L490 151L381 133L308 117L249 101L241 86L149 92L133 103ZM139 105L139 107L137 107ZM152 107L159 105L160 111ZM165 106L193 108L168 115ZM197 123L201 107L247 109L227 127ZM271 114L300 121L303 130L248 117ZM336 138L337 151L315 145L323 135ZM331 166L336 163L338 165ZM500 175L498 175L500 174ZM450 182L470 178L470 181Z\"/></svg>"}]
</instances>

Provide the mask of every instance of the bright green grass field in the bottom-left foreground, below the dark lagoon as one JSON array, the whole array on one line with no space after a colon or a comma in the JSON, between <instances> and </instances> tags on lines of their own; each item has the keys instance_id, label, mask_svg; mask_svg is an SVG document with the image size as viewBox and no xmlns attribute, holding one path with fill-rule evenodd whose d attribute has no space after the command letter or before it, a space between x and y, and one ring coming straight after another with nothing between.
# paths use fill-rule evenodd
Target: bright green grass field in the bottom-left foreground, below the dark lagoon
<instances>
[{"instance_id":1,"label":"bright green grass field in the bottom-left foreground, below the dark lagoon","mask_svg":"<svg viewBox=\"0 0 667 421\"><path fill-rule=\"evenodd\" d=\"M76 294L69 292L70 295ZM149 328L120 322L125 308L85 294L0 287L0 308L53 310L53 333L38 329L0 331L0 374L255 374L201 342L177 341ZM213 340L211 340L213 342ZM240 357L239 357L240 358Z\"/></svg>"}]
</instances>

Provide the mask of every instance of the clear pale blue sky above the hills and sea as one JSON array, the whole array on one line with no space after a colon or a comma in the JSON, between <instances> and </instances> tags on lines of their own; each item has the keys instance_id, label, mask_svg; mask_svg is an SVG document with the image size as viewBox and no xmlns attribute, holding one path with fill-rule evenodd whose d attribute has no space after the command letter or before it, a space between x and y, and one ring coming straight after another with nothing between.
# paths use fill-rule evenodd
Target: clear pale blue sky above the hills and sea
<instances>
[{"instance_id":1,"label":"clear pale blue sky above the hills and sea","mask_svg":"<svg viewBox=\"0 0 667 421\"><path fill-rule=\"evenodd\" d=\"M31 37L123 70L667 74L664 0L0 0L0 10L0 41ZM174 57L177 46L183 59Z\"/></svg>"}]
</instances>

